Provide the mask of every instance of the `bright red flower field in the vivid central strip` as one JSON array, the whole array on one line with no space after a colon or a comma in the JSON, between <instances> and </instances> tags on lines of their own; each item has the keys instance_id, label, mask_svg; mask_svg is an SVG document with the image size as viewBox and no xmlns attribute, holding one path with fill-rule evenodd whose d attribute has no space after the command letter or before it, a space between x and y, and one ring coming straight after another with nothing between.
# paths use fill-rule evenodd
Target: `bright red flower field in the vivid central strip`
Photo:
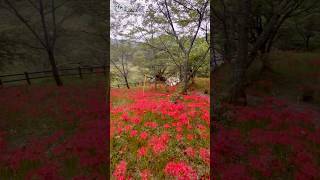
<instances>
[{"instance_id":1,"label":"bright red flower field in the vivid central strip","mask_svg":"<svg viewBox=\"0 0 320 180\"><path fill-rule=\"evenodd\" d=\"M209 179L209 96L111 92L113 179Z\"/></svg>"}]
</instances>

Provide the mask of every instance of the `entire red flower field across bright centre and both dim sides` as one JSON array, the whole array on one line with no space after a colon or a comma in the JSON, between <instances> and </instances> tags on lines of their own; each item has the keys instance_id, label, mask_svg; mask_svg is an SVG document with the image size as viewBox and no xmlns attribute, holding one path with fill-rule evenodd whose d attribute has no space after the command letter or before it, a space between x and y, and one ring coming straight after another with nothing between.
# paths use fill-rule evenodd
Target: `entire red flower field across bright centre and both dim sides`
<instances>
[{"instance_id":1,"label":"entire red flower field across bright centre and both dim sides","mask_svg":"<svg viewBox=\"0 0 320 180\"><path fill-rule=\"evenodd\" d=\"M106 179L104 83L1 89L0 179ZM209 97L112 89L112 179L209 179ZM319 179L319 112L218 104L214 179Z\"/></svg>"}]
</instances>

